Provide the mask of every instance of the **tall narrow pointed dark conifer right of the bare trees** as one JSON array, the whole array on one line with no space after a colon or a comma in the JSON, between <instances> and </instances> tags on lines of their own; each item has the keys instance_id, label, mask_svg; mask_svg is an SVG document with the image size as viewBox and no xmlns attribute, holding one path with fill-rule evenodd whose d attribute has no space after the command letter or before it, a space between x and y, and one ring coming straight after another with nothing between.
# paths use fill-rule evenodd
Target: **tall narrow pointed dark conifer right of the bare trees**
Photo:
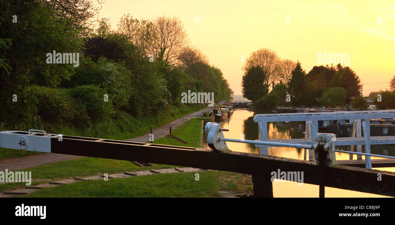
<instances>
[{"instance_id":1,"label":"tall narrow pointed dark conifer right of the bare trees","mask_svg":"<svg viewBox=\"0 0 395 225\"><path fill-rule=\"evenodd\" d=\"M291 93L291 102L293 106L299 105L305 96L303 83L305 82L306 71L302 69L301 63L297 61L295 69L292 70L292 78L288 87Z\"/></svg>"}]
</instances>

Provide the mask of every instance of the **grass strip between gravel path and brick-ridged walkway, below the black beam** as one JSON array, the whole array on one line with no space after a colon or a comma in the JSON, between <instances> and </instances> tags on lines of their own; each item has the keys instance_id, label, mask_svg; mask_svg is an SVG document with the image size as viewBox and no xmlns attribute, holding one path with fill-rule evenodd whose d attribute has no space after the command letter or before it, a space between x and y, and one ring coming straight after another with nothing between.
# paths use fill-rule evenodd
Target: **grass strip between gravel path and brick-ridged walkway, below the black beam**
<instances>
[{"instance_id":1,"label":"grass strip between gravel path and brick-ridged walkway, below the black beam","mask_svg":"<svg viewBox=\"0 0 395 225\"><path fill-rule=\"evenodd\" d=\"M124 171L133 172L164 168L175 168L175 166L154 164L154 166L139 167L130 161L83 157L80 159L48 163L16 171L31 171L31 185L37 185L40 183L47 183L49 181L74 179L75 177L98 176L105 173L114 174L122 173ZM5 183L0 185L0 192L21 189L24 187L25 183Z\"/></svg>"}]
</instances>

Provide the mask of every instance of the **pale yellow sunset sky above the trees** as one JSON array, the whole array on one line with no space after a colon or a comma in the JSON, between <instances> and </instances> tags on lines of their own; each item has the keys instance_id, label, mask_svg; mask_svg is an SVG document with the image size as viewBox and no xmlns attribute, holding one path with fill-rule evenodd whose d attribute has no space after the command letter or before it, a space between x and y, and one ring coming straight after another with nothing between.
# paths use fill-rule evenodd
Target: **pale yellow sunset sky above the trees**
<instances>
[{"instance_id":1,"label":"pale yellow sunset sky above the trees","mask_svg":"<svg viewBox=\"0 0 395 225\"><path fill-rule=\"evenodd\" d=\"M113 30L127 13L135 19L179 17L192 45L222 70L235 95L241 95L241 55L262 47L299 59L306 72L321 65L319 53L349 53L361 82L377 83L363 85L365 96L385 90L388 83L378 82L395 76L394 0L107 0L101 6L99 18L107 15Z\"/></svg>"}]
</instances>

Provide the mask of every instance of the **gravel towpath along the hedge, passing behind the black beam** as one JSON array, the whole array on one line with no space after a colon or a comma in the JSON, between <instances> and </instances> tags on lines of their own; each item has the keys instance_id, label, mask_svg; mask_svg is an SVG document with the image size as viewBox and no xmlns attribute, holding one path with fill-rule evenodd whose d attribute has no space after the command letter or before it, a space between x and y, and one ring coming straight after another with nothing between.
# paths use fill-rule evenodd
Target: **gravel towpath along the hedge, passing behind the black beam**
<instances>
[{"instance_id":1,"label":"gravel towpath along the hedge, passing behind the black beam","mask_svg":"<svg viewBox=\"0 0 395 225\"><path fill-rule=\"evenodd\" d=\"M154 138L163 138L166 134L169 133L169 127L177 127L184 123L185 121L195 118L196 115L200 114L200 112L208 111L211 107L207 107L204 110L199 110L198 112L190 113L189 115L185 115L179 119L171 121L162 127L158 127L154 129ZM144 134L143 136L139 136L136 138L127 139L126 141L133 142L148 142L149 141L149 132ZM8 169L11 170L21 170L24 168L29 168L33 166L39 166L46 163L54 163L58 161L65 161L70 159L78 159L82 156L77 155L64 155L64 154L56 154L56 153L44 153L41 155L28 155L21 158L12 158L12 159L2 159L0 160L0 171L5 171Z\"/></svg>"}]
</instances>

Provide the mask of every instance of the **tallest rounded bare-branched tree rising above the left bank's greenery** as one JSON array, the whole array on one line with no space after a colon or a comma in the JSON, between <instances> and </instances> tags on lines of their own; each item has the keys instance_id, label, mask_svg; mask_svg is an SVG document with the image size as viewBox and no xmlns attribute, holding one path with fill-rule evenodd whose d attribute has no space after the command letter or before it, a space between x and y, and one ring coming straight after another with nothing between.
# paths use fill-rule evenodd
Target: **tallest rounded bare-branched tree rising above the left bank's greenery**
<instances>
[{"instance_id":1,"label":"tallest rounded bare-branched tree rising above the left bank's greenery","mask_svg":"<svg viewBox=\"0 0 395 225\"><path fill-rule=\"evenodd\" d=\"M182 47L186 45L187 34L184 25L177 17L156 17L154 20L154 52L165 62L179 59Z\"/></svg>"}]
</instances>

